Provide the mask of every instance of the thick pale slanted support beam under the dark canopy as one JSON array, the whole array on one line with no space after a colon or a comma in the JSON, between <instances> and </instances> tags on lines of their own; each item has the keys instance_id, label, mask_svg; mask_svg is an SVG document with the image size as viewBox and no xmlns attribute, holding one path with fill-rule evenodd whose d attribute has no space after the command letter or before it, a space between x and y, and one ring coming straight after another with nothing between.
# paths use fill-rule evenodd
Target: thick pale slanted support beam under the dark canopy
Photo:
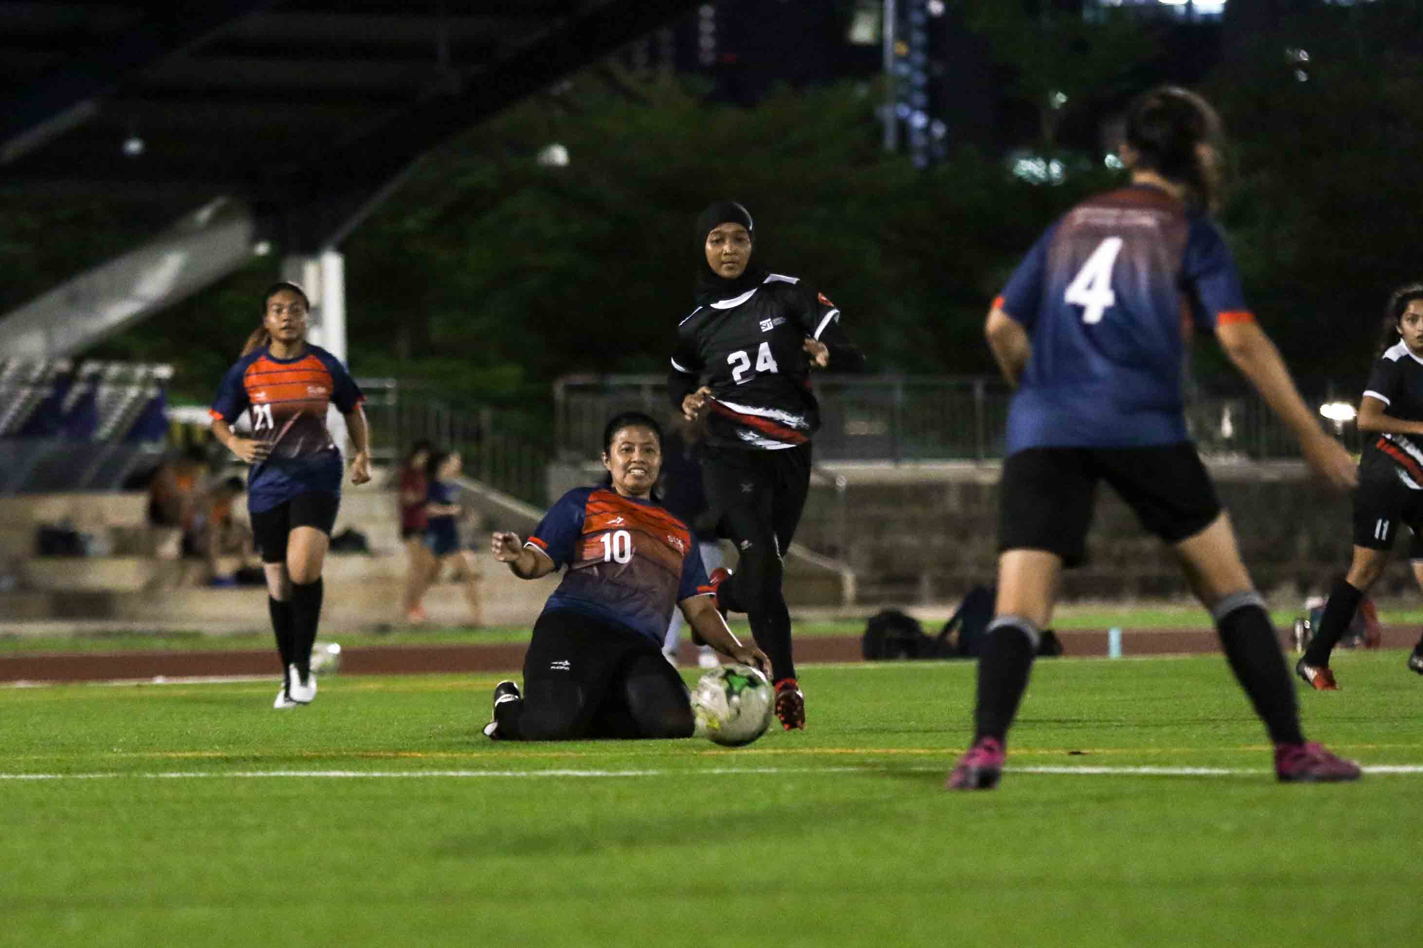
<instances>
[{"instance_id":1,"label":"thick pale slanted support beam under the dark canopy","mask_svg":"<svg viewBox=\"0 0 1423 948\"><path fill-rule=\"evenodd\" d=\"M83 352L246 263L255 233L245 205L218 198L137 250L0 317L0 357Z\"/></svg>"}]
</instances>

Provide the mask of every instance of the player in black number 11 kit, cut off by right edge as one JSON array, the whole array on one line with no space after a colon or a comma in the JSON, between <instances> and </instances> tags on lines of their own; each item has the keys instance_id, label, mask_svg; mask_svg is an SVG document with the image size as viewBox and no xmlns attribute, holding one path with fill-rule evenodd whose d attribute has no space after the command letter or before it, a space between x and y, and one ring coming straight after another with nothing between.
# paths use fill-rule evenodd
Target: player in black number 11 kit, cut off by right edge
<instances>
[{"instance_id":1,"label":"player in black number 11 kit, cut off by right edge","mask_svg":"<svg viewBox=\"0 0 1423 948\"><path fill-rule=\"evenodd\" d=\"M1423 283L1402 286L1389 297L1380 352L1355 424L1366 436L1353 492L1353 560L1329 591L1319 627L1295 664L1295 674L1315 691L1339 689L1329 655L1383 576L1399 526L1414 534L1423 530ZM1413 571L1419 576L1417 564ZM1423 638L1407 667L1423 675Z\"/></svg>"}]
</instances>

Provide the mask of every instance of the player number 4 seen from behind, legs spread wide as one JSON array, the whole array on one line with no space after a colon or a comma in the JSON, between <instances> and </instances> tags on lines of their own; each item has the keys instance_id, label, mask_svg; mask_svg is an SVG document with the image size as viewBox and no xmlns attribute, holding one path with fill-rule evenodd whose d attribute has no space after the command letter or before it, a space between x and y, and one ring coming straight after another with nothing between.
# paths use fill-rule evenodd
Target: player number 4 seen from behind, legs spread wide
<instances>
[{"instance_id":1,"label":"player number 4 seen from behind, legs spread wide","mask_svg":"<svg viewBox=\"0 0 1423 948\"><path fill-rule=\"evenodd\" d=\"M1265 722L1276 777L1360 773L1305 742L1275 628L1187 436L1181 377L1184 334L1194 325L1215 334L1294 429L1316 476L1338 489L1355 483L1349 453L1305 406L1247 308L1235 263L1208 216L1218 148L1220 119L1205 99L1173 87L1140 95L1121 146L1130 185L1052 225L989 313L989 347L1017 392L999 483L995 618L979 654L973 742L949 773L951 790L998 785L1062 570L1086 560L1100 480L1180 559Z\"/></svg>"}]
</instances>

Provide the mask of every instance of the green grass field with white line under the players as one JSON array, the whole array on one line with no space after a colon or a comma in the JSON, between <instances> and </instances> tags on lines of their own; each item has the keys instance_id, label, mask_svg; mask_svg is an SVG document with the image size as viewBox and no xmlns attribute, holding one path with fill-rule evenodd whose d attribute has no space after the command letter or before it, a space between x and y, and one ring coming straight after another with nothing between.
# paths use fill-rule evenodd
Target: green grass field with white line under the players
<instances>
[{"instance_id":1,"label":"green grass field with white line under the players","mask_svg":"<svg viewBox=\"0 0 1423 948\"><path fill-rule=\"evenodd\" d=\"M0 689L0 945L1412 944L1423 681L1335 668L1311 735L1412 772L1276 785L1218 657L1040 662L965 795L968 664L740 750L492 743L494 675Z\"/></svg>"}]
</instances>

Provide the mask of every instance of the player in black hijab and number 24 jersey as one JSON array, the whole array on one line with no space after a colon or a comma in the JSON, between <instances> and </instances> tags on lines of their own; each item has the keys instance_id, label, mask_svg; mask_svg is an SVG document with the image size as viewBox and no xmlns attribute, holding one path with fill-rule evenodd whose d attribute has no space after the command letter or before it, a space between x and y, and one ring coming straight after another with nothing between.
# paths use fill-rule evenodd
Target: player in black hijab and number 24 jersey
<instances>
[{"instance_id":1,"label":"player in black hijab and number 24 jersey","mask_svg":"<svg viewBox=\"0 0 1423 948\"><path fill-rule=\"evenodd\" d=\"M824 293L751 264L757 237L746 208L719 200L697 216L694 233L696 308L677 325L667 394L689 421L706 414L706 493L740 556L734 576L712 574L717 605L747 614L771 657L776 716L787 731L804 729L781 581L820 428L810 371L858 371L865 357Z\"/></svg>"}]
</instances>

